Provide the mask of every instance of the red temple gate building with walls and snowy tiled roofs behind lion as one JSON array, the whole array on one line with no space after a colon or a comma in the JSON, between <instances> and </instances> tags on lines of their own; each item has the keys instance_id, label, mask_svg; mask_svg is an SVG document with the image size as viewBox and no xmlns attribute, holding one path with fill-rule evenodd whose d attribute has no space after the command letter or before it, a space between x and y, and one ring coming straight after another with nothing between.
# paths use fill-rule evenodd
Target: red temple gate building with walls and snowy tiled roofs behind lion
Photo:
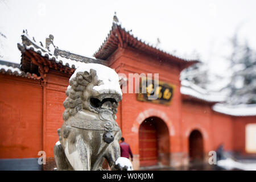
<instances>
[{"instance_id":1,"label":"red temple gate building with walls and snowy tiled roofs behind lion","mask_svg":"<svg viewBox=\"0 0 256 182\"><path fill-rule=\"evenodd\" d=\"M134 169L188 166L194 160L208 162L209 151L221 143L225 150L256 154L255 144L246 138L255 132L247 129L256 125L255 105L246 109L225 107L217 104L224 101L220 96L208 95L190 82L180 81L180 72L197 60L182 59L150 46L118 23L113 23L94 57L51 48L51 43L46 46L24 32L18 44L20 65L1 62L0 163L10 166L26 160L36 166L39 151L46 152L47 163L54 160L53 147L63 123L69 77L86 63L106 65L127 78L129 73L159 73L159 98L152 101L145 94L123 93L119 103L117 123L133 151ZM136 86L135 80L130 82L122 89Z\"/></svg>"}]
</instances>

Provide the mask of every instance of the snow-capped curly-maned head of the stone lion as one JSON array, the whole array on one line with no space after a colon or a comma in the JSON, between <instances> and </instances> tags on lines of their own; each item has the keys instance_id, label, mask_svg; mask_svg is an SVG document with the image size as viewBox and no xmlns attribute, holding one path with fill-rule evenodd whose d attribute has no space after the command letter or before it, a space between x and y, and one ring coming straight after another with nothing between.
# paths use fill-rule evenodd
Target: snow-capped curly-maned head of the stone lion
<instances>
[{"instance_id":1,"label":"snow-capped curly-maned head of the stone lion","mask_svg":"<svg viewBox=\"0 0 256 182\"><path fill-rule=\"evenodd\" d=\"M76 69L69 79L68 96L63 105L64 121L79 111L93 113L117 113L118 102L122 100L117 73L104 65L88 63Z\"/></svg>"}]
</instances>

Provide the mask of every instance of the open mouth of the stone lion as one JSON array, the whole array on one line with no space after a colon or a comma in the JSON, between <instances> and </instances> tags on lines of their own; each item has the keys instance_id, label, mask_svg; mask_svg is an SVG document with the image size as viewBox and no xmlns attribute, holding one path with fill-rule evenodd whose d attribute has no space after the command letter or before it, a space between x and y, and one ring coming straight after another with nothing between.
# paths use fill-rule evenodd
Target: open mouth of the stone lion
<instances>
[{"instance_id":1,"label":"open mouth of the stone lion","mask_svg":"<svg viewBox=\"0 0 256 182\"><path fill-rule=\"evenodd\" d=\"M97 111L112 111L113 113L117 113L118 107L118 99L108 96L98 96L98 97L90 97L89 105L93 109Z\"/></svg>"}]
</instances>

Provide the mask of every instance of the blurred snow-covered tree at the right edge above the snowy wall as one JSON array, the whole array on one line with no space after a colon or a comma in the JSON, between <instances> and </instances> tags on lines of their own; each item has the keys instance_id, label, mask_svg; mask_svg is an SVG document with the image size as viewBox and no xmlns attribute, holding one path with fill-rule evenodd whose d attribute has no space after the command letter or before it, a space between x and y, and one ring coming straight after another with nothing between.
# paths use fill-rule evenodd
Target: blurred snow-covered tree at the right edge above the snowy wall
<instances>
[{"instance_id":1,"label":"blurred snow-covered tree at the right edge above the snowy wall","mask_svg":"<svg viewBox=\"0 0 256 182\"><path fill-rule=\"evenodd\" d=\"M256 51L247 42L240 43L235 34L231 40L233 52L230 69L233 71L229 90L229 104L256 104Z\"/></svg>"}]
</instances>

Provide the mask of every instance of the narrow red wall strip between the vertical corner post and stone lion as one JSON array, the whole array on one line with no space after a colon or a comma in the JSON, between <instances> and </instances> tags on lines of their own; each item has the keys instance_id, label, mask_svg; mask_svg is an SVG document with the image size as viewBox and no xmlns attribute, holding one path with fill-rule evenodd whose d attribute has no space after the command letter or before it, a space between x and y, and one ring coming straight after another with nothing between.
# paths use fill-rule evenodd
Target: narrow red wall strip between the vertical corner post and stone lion
<instances>
[{"instance_id":1,"label":"narrow red wall strip between the vertical corner post and stone lion","mask_svg":"<svg viewBox=\"0 0 256 182\"><path fill-rule=\"evenodd\" d=\"M63 102L67 96L65 91L69 85L69 75L50 71L47 75L46 85L46 112L44 117L44 151L47 157L53 157L53 147L59 141L57 129L63 124L62 114L65 110Z\"/></svg>"}]
</instances>

